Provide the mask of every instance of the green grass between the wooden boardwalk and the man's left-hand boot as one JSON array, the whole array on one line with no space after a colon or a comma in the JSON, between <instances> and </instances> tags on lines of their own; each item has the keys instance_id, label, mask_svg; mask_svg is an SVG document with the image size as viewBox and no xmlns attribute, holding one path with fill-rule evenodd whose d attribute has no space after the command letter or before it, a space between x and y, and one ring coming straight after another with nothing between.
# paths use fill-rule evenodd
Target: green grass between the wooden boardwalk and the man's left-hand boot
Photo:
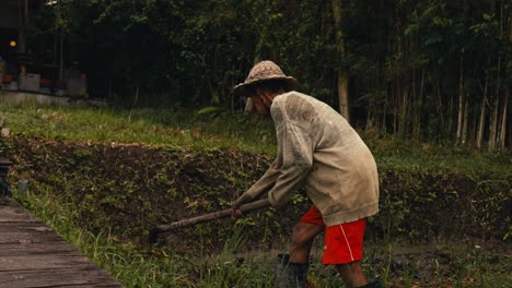
<instances>
[{"instance_id":1,"label":"green grass between the wooden boardwalk and the man's left-hand boot","mask_svg":"<svg viewBox=\"0 0 512 288\"><path fill-rule=\"evenodd\" d=\"M93 235L70 220L73 209L57 203L50 191L15 193L15 199L48 226L94 261L126 287L274 287L269 266L260 262L237 263L234 253L243 243L241 229L216 257L197 255L189 259L170 254L166 249L141 250L120 244L108 235ZM235 285L235 286L233 286Z\"/></svg>"}]
</instances>

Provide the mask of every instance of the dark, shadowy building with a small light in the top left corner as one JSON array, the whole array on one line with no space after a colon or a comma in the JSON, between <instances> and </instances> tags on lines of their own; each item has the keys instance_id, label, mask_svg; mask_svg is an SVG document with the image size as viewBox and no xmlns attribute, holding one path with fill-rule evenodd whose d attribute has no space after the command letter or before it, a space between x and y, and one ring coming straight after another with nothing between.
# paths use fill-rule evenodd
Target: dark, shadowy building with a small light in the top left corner
<instances>
[{"instance_id":1,"label":"dark, shadowy building with a small light in the top left corner","mask_svg":"<svg viewBox=\"0 0 512 288\"><path fill-rule=\"evenodd\" d=\"M36 17L55 0L0 1L0 80L8 91L86 95L85 75L70 69L62 35L36 35Z\"/></svg>"}]
</instances>

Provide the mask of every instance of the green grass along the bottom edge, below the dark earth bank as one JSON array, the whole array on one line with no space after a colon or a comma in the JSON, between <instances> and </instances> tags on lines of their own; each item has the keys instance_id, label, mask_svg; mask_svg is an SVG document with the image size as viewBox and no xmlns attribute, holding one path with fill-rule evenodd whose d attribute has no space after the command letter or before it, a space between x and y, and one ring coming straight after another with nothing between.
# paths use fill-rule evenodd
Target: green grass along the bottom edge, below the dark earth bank
<instances>
[{"instance_id":1,"label":"green grass along the bottom edge, below the dark earth bank","mask_svg":"<svg viewBox=\"0 0 512 288\"><path fill-rule=\"evenodd\" d=\"M140 250L119 244L108 235L80 229L69 220L73 218L72 209L56 203L50 191L37 192L28 190L24 195L15 194L15 199L126 287L275 287L275 259L270 254L261 251L252 257L237 255L245 241L241 229L233 229L222 252L214 256L170 254L168 250L156 247ZM342 287L335 271L319 264L321 242L322 239L315 240L317 250L311 262L309 281L312 287ZM380 276L386 287L494 288L507 287L512 281L510 255L485 252L479 247L468 249L464 244L415 247L410 253L399 252L404 247L392 240L369 241L363 262L366 275ZM432 253L434 256L424 256ZM428 280L426 273L431 276Z\"/></svg>"}]
</instances>

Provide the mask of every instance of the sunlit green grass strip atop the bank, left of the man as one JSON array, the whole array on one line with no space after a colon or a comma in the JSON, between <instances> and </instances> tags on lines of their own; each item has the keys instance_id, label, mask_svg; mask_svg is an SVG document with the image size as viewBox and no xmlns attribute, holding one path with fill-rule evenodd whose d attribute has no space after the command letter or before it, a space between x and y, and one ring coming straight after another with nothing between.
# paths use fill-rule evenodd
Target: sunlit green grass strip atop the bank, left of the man
<instances>
[{"instance_id":1,"label":"sunlit green grass strip atop the bank, left of the man","mask_svg":"<svg viewBox=\"0 0 512 288\"><path fill-rule=\"evenodd\" d=\"M275 149L271 121L257 116L207 113L187 109L93 109L0 104L14 134L48 140L146 143L190 147ZM257 145L255 145L257 143Z\"/></svg>"}]
</instances>

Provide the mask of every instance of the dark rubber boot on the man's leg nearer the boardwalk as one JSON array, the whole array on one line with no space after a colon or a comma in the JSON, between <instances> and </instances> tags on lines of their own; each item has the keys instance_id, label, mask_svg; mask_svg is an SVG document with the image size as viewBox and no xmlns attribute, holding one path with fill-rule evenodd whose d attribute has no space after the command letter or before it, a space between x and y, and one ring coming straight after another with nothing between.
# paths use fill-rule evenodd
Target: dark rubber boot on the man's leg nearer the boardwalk
<instances>
[{"instance_id":1,"label":"dark rubber boot on the man's leg nearer the boardwalk","mask_svg":"<svg viewBox=\"0 0 512 288\"><path fill-rule=\"evenodd\" d=\"M288 254L279 254L276 263L277 288L305 288L307 263L292 263Z\"/></svg>"}]
</instances>

